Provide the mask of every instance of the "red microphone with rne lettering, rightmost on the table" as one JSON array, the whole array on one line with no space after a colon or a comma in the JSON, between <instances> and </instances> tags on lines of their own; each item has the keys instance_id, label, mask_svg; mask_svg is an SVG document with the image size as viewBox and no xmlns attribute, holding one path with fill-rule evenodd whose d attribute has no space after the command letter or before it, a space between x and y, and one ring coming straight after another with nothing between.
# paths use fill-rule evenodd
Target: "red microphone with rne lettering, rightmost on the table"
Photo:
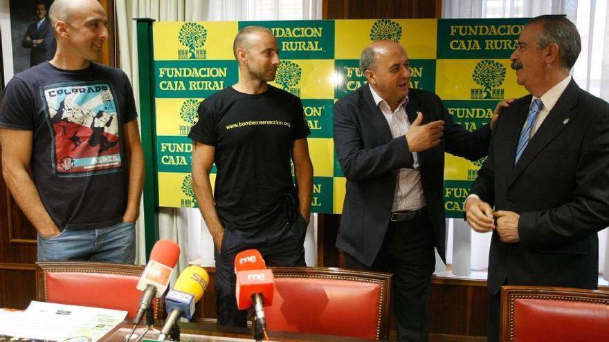
<instances>
[{"instance_id":1,"label":"red microphone with rne lettering, rightmost on the table","mask_svg":"<svg viewBox=\"0 0 609 342\"><path fill-rule=\"evenodd\" d=\"M273 303L273 292L275 291L273 272L266 269L260 251L248 249L235 256L235 273L237 274L235 288L237 307L244 310L253 304L256 325L260 332L264 332L266 317L263 306Z\"/></svg>"}]
</instances>

